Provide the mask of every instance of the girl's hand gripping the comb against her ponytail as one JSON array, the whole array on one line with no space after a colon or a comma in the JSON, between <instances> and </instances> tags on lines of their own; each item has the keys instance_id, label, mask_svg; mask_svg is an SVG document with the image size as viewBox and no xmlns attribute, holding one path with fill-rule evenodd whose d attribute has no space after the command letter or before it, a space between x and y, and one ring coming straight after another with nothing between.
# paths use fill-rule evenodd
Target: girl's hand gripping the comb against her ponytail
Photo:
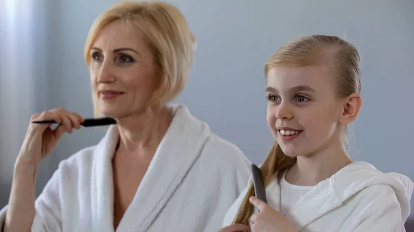
<instances>
[{"instance_id":1,"label":"girl's hand gripping the comb against her ponytail","mask_svg":"<svg viewBox=\"0 0 414 232\"><path fill-rule=\"evenodd\" d=\"M293 223L282 213L275 211L258 198L250 197L249 200L260 211L250 218L253 232L297 232Z\"/></svg>"}]
</instances>

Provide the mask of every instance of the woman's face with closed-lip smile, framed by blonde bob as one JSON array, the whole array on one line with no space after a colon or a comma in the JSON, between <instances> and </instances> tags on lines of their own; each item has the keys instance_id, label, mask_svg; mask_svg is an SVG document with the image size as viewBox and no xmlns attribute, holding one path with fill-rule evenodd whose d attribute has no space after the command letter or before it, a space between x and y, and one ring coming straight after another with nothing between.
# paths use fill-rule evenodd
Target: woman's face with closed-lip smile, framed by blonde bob
<instances>
[{"instance_id":1,"label":"woman's face with closed-lip smile, framed by blonde bob","mask_svg":"<svg viewBox=\"0 0 414 232\"><path fill-rule=\"evenodd\" d=\"M144 110L161 72L141 30L121 20L106 25L90 58L90 81L103 115L122 118Z\"/></svg>"}]
</instances>

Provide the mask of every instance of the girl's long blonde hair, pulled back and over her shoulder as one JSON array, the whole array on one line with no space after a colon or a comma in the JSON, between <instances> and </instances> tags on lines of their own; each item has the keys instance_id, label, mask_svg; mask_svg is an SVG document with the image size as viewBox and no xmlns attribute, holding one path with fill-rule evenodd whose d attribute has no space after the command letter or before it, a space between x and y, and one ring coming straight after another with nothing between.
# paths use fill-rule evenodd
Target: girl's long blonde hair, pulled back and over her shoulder
<instances>
[{"instance_id":1,"label":"girl's long blonde hair, pulled back and over her shoulder","mask_svg":"<svg viewBox=\"0 0 414 232\"><path fill-rule=\"evenodd\" d=\"M339 39L337 36L301 36L277 49L266 62L264 72L267 76L269 70L276 66L301 67L328 63L333 67L333 73L338 80L338 95L349 96L361 92L359 62L357 49L351 43ZM274 143L260 167L265 186L275 178L276 174L283 173L295 163L296 158L286 156L279 145ZM249 223L250 216L253 213L253 206L248 200L250 196L255 196L253 184L249 185L233 224Z\"/></svg>"}]
</instances>

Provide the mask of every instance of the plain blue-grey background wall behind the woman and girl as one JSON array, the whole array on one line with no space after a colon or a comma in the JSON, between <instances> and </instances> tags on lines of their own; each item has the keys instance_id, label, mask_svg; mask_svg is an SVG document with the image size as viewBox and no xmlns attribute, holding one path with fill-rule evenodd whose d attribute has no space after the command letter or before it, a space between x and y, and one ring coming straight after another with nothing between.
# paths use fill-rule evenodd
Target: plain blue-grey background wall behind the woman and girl
<instances>
[{"instance_id":1,"label":"plain blue-grey background wall behind the woman and girl","mask_svg":"<svg viewBox=\"0 0 414 232\"><path fill-rule=\"evenodd\" d=\"M83 43L95 17L116 2L0 3L0 38L6 38L0 43L0 207L8 200L14 159L32 113L65 107L92 116ZM250 160L262 162L273 141L265 120L264 63L293 36L333 34L355 43L362 54L364 104L352 127L352 158L414 179L414 1L170 2L186 15L198 41L188 85L175 102L188 105ZM28 10L10 13L19 3ZM63 136L41 163L37 194L60 160L102 135L81 129Z\"/></svg>"}]
</instances>

